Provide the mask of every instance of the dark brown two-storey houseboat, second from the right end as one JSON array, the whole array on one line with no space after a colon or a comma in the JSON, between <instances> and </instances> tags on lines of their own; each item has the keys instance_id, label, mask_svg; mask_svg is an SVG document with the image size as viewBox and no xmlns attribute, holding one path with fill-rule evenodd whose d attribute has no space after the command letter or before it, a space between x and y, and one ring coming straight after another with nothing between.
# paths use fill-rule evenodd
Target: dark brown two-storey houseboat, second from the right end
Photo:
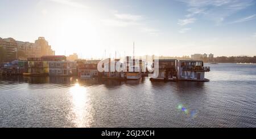
<instances>
[{"instance_id":1,"label":"dark brown two-storey houseboat, second from the right end","mask_svg":"<svg viewBox=\"0 0 256 139\"><path fill-rule=\"evenodd\" d=\"M177 60L158 59L153 60L153 68L158 68L158 75L151 77L151 81L176 81L177 80Z\"/></svg>"}]
</instances>

